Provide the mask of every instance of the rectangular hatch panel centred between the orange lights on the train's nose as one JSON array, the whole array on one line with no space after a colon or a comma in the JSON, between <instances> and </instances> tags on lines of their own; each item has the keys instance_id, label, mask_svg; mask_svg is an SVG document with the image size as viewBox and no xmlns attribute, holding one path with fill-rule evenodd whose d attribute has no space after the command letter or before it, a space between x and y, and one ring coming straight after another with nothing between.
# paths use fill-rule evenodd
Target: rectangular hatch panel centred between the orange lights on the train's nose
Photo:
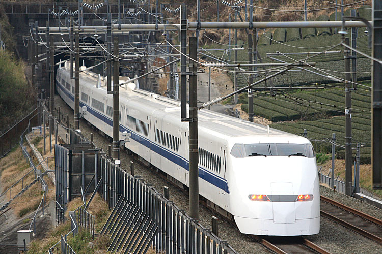
<instances>
[{"instance_id":1,"label":"rectangular hatch panel centred between the orange lights on the train's nose","mask_svg":"<svg viewBox=\"0 0 382 254\"><path fill-rule=\"evenodd\" d=\"M293 200L293 184L291 182L272 182L270 183L272 196L290 198L291 200L278 200L272 202L273 222L274 223L295 223L296 208Z\"/></svg>"}]
</instances>

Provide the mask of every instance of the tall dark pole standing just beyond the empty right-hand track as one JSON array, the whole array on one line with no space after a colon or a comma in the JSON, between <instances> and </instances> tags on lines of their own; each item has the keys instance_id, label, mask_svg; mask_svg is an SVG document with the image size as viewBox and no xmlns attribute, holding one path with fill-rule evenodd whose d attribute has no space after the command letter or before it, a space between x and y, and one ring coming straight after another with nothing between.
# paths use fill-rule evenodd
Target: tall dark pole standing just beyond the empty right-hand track
<instances>
[{"instance_id":1,"label":"tall dark pole standing just beyond the empty right-hand track","mask_svg":"<svg viewBox=\"0 0 382 254\"><path fill-rule=\"evenodd\" d=\"M349 45L349 38L345 38L345 44ZM346 47L344 48L345 52L345 139L346 139L346 146L345 146L345 194L351 195L352 193L352 172L351 172L351 166L352 166L352 156L351 156L351 88L350 88L350 58L349 58L349 52Z\"/></svg>"}]
</instances>

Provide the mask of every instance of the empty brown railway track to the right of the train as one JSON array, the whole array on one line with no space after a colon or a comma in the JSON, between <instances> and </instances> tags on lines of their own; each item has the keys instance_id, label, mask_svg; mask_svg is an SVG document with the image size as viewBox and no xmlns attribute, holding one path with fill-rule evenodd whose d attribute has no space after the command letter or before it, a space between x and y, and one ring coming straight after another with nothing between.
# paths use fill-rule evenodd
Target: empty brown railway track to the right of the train
<instances>
[{"instance_id":1,"label":"empty brown railway track to the right of the train","mask_svg":"<svg viewBox=\"0 0 382 254\"><path fill-rule=\"evenodd\" d=\"M382 244L382 220L323 196L321 215Z\"/></svg>"}]
</instances>

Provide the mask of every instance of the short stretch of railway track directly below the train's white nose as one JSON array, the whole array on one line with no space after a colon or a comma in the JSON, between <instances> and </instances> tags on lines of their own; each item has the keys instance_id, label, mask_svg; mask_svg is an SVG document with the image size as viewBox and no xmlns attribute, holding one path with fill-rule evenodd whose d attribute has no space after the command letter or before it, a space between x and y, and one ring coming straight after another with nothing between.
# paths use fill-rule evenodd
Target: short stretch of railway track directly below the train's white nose
<instances>
[{"instance_id":1,"label":"short stretch of railway track directly below the train's white nose","mask_svg":"<svg viewBox=\"0 0 382 254\"><path fill-rule=\"evenodd\" d=\"M302 237L269 237L255 238L277 254L330 254L330 252L317 246Z\"/></svg>"}]
</instances>

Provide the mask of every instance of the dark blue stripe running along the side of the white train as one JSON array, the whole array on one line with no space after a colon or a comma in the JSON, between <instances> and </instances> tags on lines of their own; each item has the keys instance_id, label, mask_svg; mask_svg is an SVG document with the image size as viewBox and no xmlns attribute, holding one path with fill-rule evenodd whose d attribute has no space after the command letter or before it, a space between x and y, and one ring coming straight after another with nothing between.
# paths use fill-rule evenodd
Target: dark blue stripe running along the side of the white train
<instances>
[{"instance_id":1,"label":"dark blue stripe running along the side of the white train","mask_svg":"<svg viewBox=\"0 0 382 254\"><path fill-rule=\"evenodd\" d=\"M56 84L66 94L66 96L69 97L69 99L71 101L74 101L74 96L70 92L68 92L58 81L56 82ZM81 101L79 102L79 106L80 107L86 106L87 111L90 114L94 115L95 117L97 117L101 121L105 122L106 124L113 126L113 120L112 119L110 119L110 118L106 117L105 115L95 111L94 109L92 109L88 105L82 103ZM174 162L175 164L179 165L180 167L184 168L185 170L189 171L189 162L184 157L177 155L177 154L173 153L172 151L169 151L168 149L165 149L165 148L157 145L156 143L151 142L149 139L142 137L141 135L138 135L137 133L131 131L130 129L127 129L125 126L123 126L121 124L119 125L119 131L120 132L126 131L128 133L131 133L130 138L132 138L133 140L146 146L147 148L150 148L152 151L154 151L154 152L158 153L159 155L167 158L167 160L170 160L170 161ZM228 183L224 178L221 178L220 176L216 176L216 175L212 174L211 172L207 171L206 169L204 169L202 167L199 167L199 177L202 178L203 180L211 183L212 185L224 190L225 192L229 193Z\"/></svg>"}]
</instances>

